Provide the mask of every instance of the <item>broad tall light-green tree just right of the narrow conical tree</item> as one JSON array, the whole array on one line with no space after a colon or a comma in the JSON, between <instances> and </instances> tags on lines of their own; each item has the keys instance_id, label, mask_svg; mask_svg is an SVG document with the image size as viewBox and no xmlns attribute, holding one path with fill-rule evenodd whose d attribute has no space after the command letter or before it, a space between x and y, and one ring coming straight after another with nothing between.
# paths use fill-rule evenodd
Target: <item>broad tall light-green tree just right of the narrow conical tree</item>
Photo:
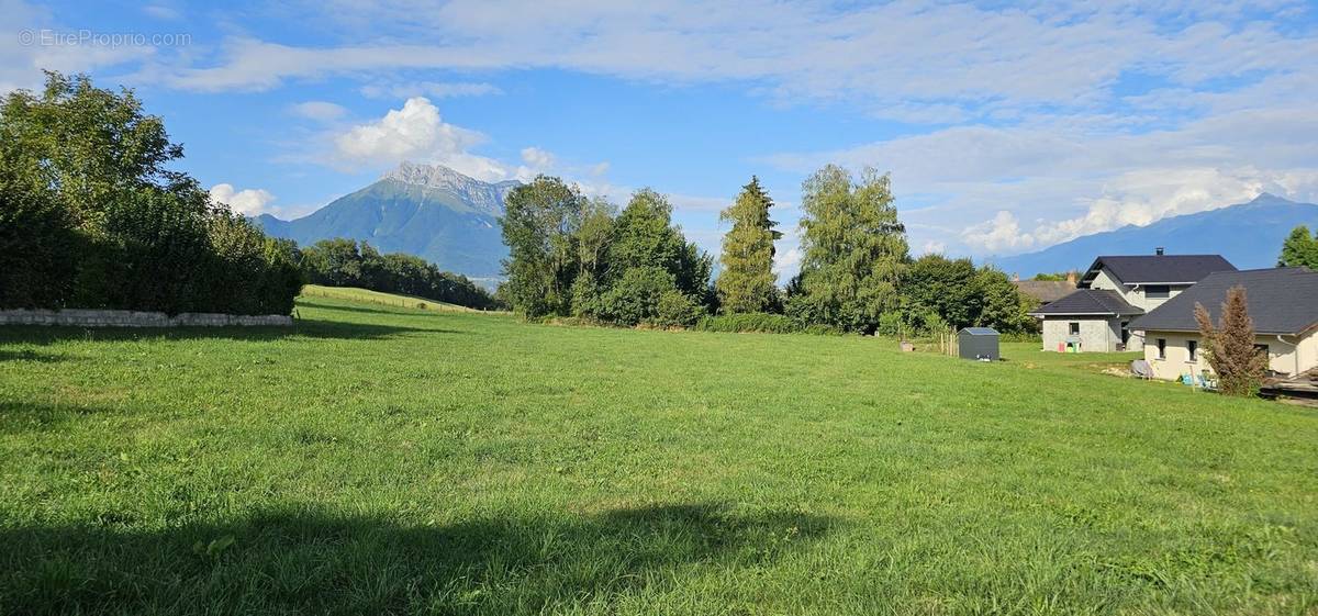
<instances>
[{"instance_id":1,"label":"broad tall light-green tree just right of the narrow conical tree","mask_svg":"<svg viewBox=\"0 0 1318 616\"><path fill-rule=\"evenodd\" d=\"M891 179L866 168L857 184L829 165L801 184L801 208L800 295L789 312L805 322L873 332L879 315L898 307L909 258Z\"/></svg>"}]
</instances>

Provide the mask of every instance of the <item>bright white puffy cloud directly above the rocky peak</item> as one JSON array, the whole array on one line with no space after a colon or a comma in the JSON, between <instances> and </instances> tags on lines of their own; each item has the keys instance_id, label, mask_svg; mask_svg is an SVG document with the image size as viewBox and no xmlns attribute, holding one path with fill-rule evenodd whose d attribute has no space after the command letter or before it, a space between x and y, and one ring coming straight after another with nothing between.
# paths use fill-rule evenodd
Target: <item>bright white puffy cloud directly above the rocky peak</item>
<instances>
[{"instance_id":1,"label":"bright white puffy cloud directly above the rocky peak","mask_svg":"<svg viewBox=\"0 0 1318 616\"><path fill-rule=\"evenodd\" d=\"M403 161L438 163L481 180L511 176L503 163L469 150L485 136L444 122L428 99L407 99L401 109L353 126L333 138L336 163L387 167Z\"/></svg>"}]
</instances>

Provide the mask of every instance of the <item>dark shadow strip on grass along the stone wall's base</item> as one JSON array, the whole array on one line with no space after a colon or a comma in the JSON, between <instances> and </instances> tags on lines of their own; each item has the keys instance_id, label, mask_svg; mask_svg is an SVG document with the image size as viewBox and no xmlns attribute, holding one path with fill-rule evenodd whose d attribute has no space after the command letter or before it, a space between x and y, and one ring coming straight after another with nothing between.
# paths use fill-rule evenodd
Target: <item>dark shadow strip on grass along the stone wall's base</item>
<instances>
[{"instance_id":1,"label":"dark shadow strip on grass along the stone wall's base","mask_svg":"<svg viewBox=\"0 0 1318 616\"><path fill-rule=\"evenodd\" d=\"M225 328L67 328L42 325L5 325L0 344L49 345L61 341L134 341L134 340L241 340L274 341L282 338L381 340L405 333L465 333L442 328L378 325L365 322L298 319L293 326L225 326ZM22 351L18 351L22 353ZM58 359L55 359L58 361Z\"/></svg>"}]
</instances>

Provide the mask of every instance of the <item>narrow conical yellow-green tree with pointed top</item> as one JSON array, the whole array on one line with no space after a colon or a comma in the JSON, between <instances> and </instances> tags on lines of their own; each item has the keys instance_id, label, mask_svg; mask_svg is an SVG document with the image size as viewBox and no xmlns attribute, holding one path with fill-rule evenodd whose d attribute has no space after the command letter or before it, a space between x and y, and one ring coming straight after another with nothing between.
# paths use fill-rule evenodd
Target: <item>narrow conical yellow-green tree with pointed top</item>
<instances>
[{"instance_id":1,"label":"narrow conical yellow-green tree with pointed top","mask_svg":"<svg viewBox=\"0 0 1318 616\"><path fill-rule=\"evenodd\" d=\"M751 176L737 201L718 215L731 221L724 236L724 254L716 287L722 312L766 312L775 304L778 276L774 275L774 241L783 237L768 218L774 201Z\"/></svg>"}]
</instances>

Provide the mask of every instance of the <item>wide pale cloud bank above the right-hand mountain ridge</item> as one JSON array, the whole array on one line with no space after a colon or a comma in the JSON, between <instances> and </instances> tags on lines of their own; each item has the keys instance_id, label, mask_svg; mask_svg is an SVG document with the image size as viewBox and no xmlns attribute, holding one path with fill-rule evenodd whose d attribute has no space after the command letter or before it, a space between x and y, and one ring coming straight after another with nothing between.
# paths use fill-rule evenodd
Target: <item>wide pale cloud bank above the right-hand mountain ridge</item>
<instances>
[{"instance_id":1,"label":"wide pale cloud bank above the right-hand mountain ridge","mask_svg":"<svg viewBox=\"0 0 1318 616\"><path fill-rule=\"evenodd\" d=\"M953 126L770 162L797 172L826 162L891 170L915 245L942 241L990 255L1243 203L1263 191L1315 200L1315 141L1318 115L1302 104L1135 133L1033 116L1014 126ZM909 201L934 205L904 208ZM971 224L949 229L949 221Z\"/></svg>"}]
</instances>

